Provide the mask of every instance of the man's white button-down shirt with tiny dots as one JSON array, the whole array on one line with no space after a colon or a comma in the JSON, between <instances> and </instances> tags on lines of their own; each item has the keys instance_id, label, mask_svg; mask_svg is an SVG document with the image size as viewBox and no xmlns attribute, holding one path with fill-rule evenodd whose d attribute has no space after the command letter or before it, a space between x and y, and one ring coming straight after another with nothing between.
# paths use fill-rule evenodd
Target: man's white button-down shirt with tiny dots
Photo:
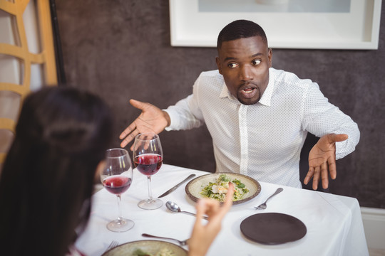
<instances>
[{"instance_id":1,"label":"man's white button-down shirt with tiny dots","mask_svg":"<svg viewBox=\"0 0 385 256\"><path fill-rule=\"evenodd\" d=\"M270 68L269 85L260 102L242 105L227 90L217 70L197 78L193 94L166 110L166 130L207 125L217 172L236 172L257 181L302 187L299 155L307 132L317 137L348 134L336 143L340 159L354 151L359 129L353 120L328 102L317 83Z\"/></svg>"}]
</instances>

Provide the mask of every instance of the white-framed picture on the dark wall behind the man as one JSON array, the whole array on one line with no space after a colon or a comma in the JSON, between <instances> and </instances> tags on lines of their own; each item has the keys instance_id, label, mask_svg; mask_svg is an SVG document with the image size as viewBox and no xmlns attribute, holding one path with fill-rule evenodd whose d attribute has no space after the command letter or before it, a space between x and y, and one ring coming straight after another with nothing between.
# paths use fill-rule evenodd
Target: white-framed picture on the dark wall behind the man
<instances>
[{"instance_id":1,"label":"white-framed picture on the dark wall behind the man","mask_svg":"<svg viewBox=\"0 0 385 256\"><path fill-rule=\"evenodd\" d=\"M377 49L381 0L170 0L171 46L215 47L237 19L265 29L272 48Z\"/></svg>"}]
</instances>

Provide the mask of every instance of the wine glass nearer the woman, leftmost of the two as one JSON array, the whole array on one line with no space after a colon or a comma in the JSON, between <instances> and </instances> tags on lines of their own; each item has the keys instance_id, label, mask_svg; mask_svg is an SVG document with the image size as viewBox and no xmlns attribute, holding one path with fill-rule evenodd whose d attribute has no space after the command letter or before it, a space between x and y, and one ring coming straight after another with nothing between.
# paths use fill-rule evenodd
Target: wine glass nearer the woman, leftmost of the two
<instances>
[{"instance_id":1,"label":"wine glass nearer the woman, leftmost of the two","mask_svg":"<svg viewBox=\"0 0 385 256\"><path fill-rule=\"evenodd\" d=\"M130 188L133 182L133 167L130 156L125 149L108 149L106 152L106 167L101 171L101 181L104 188L118 198L119 215L116 220L107 224L108 230L125 232L133 228L133 220L122 218L121 196Z\"/></svg>"}]
</instances>

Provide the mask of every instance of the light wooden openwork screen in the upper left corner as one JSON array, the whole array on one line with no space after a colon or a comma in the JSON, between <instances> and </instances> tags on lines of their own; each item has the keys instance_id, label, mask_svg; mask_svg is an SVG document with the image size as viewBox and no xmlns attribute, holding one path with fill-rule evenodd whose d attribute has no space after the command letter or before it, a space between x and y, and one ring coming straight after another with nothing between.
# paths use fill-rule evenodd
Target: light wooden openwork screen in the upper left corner
<instances>
[{"instance_id":1,"label":"light wooden openwork screen in the upper left corner","mask_svg":"<svg viewBox=\"0 0 385 256\"><path fill-rule=\"evenodd\" d=\"M32 1L34 2L32 3ZM36 10L36 17L38 19L38 37L41 49L39 53L31 53L28 46L23 14L29 4L34 4L36 7L34 10ZM12 25L11 31L14 33L14 41L16 42L14 44L0 42L0 55L16 58L23 64L21 82L18 84L0 80L0 92L13 92L19 95L18 110L16 110L16 112L19 113L24 97L31 91L31 64L42 65L44 85L57 85L58 83L49 0L31 0L31 3L29 0L0 0L0 10L3 11L3 14L4 12L9 14ZM0 66L0 68L2 67ZM3 104L4 102L7 104L9 100L2 101ZM0 109L9 111L9 106L0 105ZM3 135L0 134L0 141L1 144L3 144L3 149L6 148L4 144L10 144L13 138L8 138L9 141L6 142L7 139L5 138L6 136L4 136L4 131L10 131L14 134L16 118L11 119L0 116L0 130L3 131L3 133L1 133ZM0 164L4 162L5 156L6 151L0 151Z\"/></svg>"}]
</instances>

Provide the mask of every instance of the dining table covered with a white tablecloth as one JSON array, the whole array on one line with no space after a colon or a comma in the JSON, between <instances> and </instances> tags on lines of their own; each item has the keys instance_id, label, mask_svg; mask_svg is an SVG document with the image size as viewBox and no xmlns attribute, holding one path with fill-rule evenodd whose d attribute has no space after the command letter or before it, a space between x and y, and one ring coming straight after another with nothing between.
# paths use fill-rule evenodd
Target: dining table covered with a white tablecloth
<instances>
[{"instance_id":1,"label":"dining table covered with a white tablecloth","mask_svg":"<svg viewBox=\"0 0 385 256\"><path fill-rule=\"evenodd\" d=\"M190 174L199 177L210 174L207 171L188 169L163 164L152 176L152 196L157 198ZM263 181L260 192L248 201L234 204L222 220L222 229L207 252L207 256L217 255L369 255L359 202L356 198L334 195L320 191L310 191ZM173 213L166 208L167 201L177 203L182 210L195 213L195 201L185 192L183 183L175 191L160 198L163 206L155 210L143 210L138 202L148 197L147 176L133 170L133 181L122 194L123 218L133 220L132 229L116 233L108 230L106 224L118 217L116 195L106 189L93 194L91 216L83 233L76 240L76 247L85 255L103 255L112 241L119 245L139 240L162 240L143 238L143 233L178 240L190 238L195 216ZM263 203L277 188L283 191L267 203L265 210L255 206ZM293 216L306 226L306 234L299 240L268 245L247 238L241 231L243 220L260 213L283 213ZM207 222L207 220L201 220ZM258 223L255 229L258 228ZM172 240L164 240L173 242ZM178 242L173 242L179 245ZM182 246L188 250L188 245Z\"/></svg>"}]
</instances>

